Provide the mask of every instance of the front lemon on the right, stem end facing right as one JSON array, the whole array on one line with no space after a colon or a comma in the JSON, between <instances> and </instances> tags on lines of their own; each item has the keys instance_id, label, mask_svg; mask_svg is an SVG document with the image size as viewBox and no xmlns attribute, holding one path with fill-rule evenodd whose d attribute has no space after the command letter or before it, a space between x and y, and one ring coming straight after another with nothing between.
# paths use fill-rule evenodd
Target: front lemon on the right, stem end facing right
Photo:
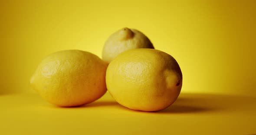
<instances>
[{"instance_id":1,"label":"front lemon on the right, stem end facing right","mask_svg":"<svg viewBox=\"0 0 256 135\"><path fill-rule=\"evenodd\" d=\"M177 61L155 49L125 51L108 65L106 85L121 105L140 111L158 111L177 99L182 73Z\"/></svg>"}]
</instances>

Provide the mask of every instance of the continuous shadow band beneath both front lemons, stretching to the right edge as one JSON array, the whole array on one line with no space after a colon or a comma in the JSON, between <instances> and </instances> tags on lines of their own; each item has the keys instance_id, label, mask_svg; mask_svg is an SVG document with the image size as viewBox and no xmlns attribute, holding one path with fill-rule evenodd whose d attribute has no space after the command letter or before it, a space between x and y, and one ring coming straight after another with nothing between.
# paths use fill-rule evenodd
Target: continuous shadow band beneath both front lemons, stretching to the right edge
<instances>
[{"instance_id":1,"label":"continuous shadow band beneath both front lemons, stretching to the right edge","mask_svg":"<svg viewBox=\"0 0 256 135\"><path fill-rule=\"evenodd\" d=\"M225 111L235 111L236 109L246 109L248 106L256 105L256 98L249 96L235 95L217 95L217 94L196 94L196 93L181 93L178 99L169 107L157 112L142 112L128 109L117 103L109 93L106 93L99 100L83 106L68 107L86 109L92 107L108 107L109 109L118 109L130 111L134 113L216 113ZM246 107L247 106L247 107ZM51 106L54 108L63 108ZM66 108L66 107L65 107ZM68 109L66 108L66 109ZM248 110L249 111L249 110Z\"/></svg>"}]
</instances>

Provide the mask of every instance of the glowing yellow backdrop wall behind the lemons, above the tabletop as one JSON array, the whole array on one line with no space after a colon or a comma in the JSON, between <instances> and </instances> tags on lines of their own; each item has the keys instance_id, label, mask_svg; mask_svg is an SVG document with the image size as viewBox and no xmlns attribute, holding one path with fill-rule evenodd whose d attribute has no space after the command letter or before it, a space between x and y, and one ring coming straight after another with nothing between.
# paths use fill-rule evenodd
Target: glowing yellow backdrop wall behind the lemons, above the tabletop
<instances>
[{"instance_id":1,"label":"glowing yellow backdrop wall behind the lemons, above the tabletop","mask_svg":"<svg viewBox=\"0 0 256 135\"><path fill-rule=\"evenodd\" d=\"M182 93L256 96L255 0L20 1L0 3L0 93L33 93L29 79L46 55L81 49L101 57L108 36L129 27L176 58Z\"/></svg>"}]
</instances>

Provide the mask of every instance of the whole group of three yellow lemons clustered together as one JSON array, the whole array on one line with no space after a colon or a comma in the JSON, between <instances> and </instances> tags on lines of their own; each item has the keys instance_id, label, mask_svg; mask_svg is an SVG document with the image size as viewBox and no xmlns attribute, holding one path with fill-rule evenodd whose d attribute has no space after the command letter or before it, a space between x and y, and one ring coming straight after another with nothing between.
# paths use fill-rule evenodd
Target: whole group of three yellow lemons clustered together
<instances>
[{"instance_id":1,"label":"whole group of three yellow lemons clustered together","mask_svg":"<svg viewBox=\"0 0 256 135\"><path fill-rule=\"evenodd\" d=\"M88 104L108 90L130 109L158 111L179 96L182 73L177 61L154 49L147 36L123 28L105 42L102 59L80 50L55 52L39 64L30 84L57 106Z\"/></svg>"}]
</instances>

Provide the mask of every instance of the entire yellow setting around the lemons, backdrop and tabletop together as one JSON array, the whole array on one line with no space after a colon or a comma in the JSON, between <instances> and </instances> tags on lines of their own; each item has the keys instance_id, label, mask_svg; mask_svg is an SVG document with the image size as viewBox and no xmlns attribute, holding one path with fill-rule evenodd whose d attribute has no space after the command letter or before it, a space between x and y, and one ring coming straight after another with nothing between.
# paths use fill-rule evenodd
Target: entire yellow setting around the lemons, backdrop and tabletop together
<instances>
[{"instance_id":1,"label":"entire yellow setting around the lemons, backdrop and tabletop together","mask_svg":"<svg viewBox=\"0 0 256 135\"><path fill-rule=\"evenodd\" d=\"M1 0L0 134L255 134L255 24L255 0ZM180 64L183 88L169 108L132 111L109 93L59 108L30 88L46 55L81 49L101 57L123 27L144 32Z\"/></svg>"}]
</instances>

